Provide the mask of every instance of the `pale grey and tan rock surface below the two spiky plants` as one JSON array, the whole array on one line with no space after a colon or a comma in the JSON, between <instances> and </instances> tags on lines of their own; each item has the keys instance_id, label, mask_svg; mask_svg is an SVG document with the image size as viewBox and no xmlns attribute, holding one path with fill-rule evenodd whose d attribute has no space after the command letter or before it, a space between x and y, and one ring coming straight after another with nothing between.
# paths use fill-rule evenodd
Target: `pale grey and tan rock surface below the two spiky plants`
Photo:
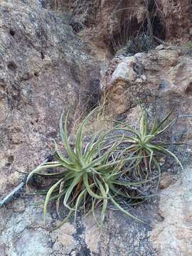
<instances>
[{"instance_id":1,"label":"pale grey and tan rock surface below the two spiky plants","mask_svg":"<svg viewBox=\"0 0 192 256\"><path fill-rule=\"evenodd\" d=\"M28 198L19 198L0 209L1 256L188 256L192 251L191 183L188 168L185 177L176 182L173 179L160 191L159 200L133 209L154 228L110 210L102 230L97 229L90 215L83 219L79 216L76 225L71 220L50 232L55 213L48 214L45 229L43 208L31 206Z\"/></svg>"}]
</instances>

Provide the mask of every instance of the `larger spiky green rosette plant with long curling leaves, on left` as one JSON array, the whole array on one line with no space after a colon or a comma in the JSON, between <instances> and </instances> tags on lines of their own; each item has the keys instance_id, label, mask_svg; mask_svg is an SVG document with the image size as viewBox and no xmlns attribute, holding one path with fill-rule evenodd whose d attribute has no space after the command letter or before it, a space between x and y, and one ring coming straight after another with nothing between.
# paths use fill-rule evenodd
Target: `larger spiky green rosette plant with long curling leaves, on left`
<instances>
[{"instance_id":1,"label":"larger spiky green rosette plant with long curling leaves, on left","mask_svg":"<svg viewBox=\"0 0 192 256\"><path fill-rule=\"evenodd\" d=\"M139 220L139 218L122 208L120 200L125 198L131 205L137 199L142 198L142 196L131 196L129 191L132 186L140 186L146 181L125 182L121 179L124 174L122 169L124 163L138 159L141 156L128 156L126 159L118 156L114 157L113 152L117 150L121 141L106 146L105 142L111 131L92 135L87 145L84 146L83 128L91 114L92 112L78 128L74 147L70 145L68 137L68 114L65 118L64 126L63 115L60 117L60 135L68 156L62 154L55 143L55 161L38 166L28 175L27 183L34 175L48 176L55 181L45 192L44 220L46 220L48 203L56 201L58 210L61 199L65 209L69 210L68 217L74 214L76 218L80 208L84 208L85 213L92 212L95 216L95 209L101 207L100 221L97 221L97 219L96 221L98 225L102 225L107 205L110 202L124 214ZM55 173L41 172L50 168L60 169L60 171Z\"/></svg>"}]
</instances>

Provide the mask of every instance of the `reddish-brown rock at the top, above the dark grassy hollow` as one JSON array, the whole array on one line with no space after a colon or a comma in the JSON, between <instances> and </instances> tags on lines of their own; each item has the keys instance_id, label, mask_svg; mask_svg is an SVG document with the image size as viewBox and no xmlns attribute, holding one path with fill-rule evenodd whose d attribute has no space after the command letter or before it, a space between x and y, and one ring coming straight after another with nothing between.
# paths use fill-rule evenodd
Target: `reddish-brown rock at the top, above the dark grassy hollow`
<instances>
[{"instance_id":1,"label":"reddish-brown rock at the top, above the dark grassy hollow","mask_svg":"<svg viewBox=\"0 0 192 256\"><path fill-rule=\"evenodd\" d=\"M147 30L147 17L154 35L174 42L192 39L191 0L45 0L50 9L70 11L77 31L95 46L108 50L123 45L137 31ZM148 3L148 4L147 4Z\"/></svg>"}]
</instances>

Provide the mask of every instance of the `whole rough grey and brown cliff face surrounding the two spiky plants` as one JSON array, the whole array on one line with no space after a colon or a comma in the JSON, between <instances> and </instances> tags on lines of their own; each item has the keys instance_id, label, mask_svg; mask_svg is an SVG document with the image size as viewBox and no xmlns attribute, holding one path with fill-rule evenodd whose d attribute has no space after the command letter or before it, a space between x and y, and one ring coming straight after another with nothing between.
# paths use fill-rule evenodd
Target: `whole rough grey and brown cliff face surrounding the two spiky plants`
<instances>
[{"instance_id":1,"label":"whole rough grey and brown cliff face surrounding the two spiky plants","mask_svg":"<svg viewBox=\"0 0 192 256\"><path fill-rule=\"evenodd\" d=\"M53 151L60 114L70 110L72 125L75 110L97 103L100 87L119 119L136 122L138 97L160 117L173 107L174 115L192 114L191 48L113 58L126 38L149 32L149 19L155 36L190 41L191 1L2 0L0 14L0 197L22 180L18 171ZM175 132L191 140L191 119L178 120ZM160 185L159 198L132 209L153 228L109 210L102 230L79 216L50 232L55 211L44 228L42 208L32 205L38 199L23 194L0 209L0 255L188 256L191 169L184 179L166 172Z\"/></svg>"}]
</instances>

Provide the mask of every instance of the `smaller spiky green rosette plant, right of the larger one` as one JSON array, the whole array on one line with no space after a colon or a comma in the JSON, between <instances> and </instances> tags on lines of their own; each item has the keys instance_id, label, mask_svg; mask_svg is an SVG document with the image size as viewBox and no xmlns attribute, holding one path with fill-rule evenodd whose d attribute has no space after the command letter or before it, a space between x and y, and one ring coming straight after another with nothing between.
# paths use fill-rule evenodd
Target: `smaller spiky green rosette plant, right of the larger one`
<instances>
[{"instance_id":1,"label":"smaller spiky green rosette plant, right of the larger one","mask_svg":"<svg viewBox=\"0 0 192 256\"><path fill-rule=\"evenodd\" d=\"M159 179L161 176L161 169L159 165L159 155L169 155L173 157L176 162L181 166L183 166L181 162L178 160L177 156L169 151L166 147L169 143L166 142L159 142L158 137L159 135L163 134L166 129L168 129L171 124L175 122L176 119L173 119L169 124L166 124L167 119L169 119L171 112L166 115L166 117L161 120L161 122L157 122L157 115L155 114L154 120L151 125L151 129L149 127L149 116L146 112L146 109L142 104L139 103L141 108L141 115L139 120L139 129L131 127L126 123L121 123L124 125L124 128L117 128L117 130L122 130L125 133L131 134L130 136L124 135L123 141L128 142L129 146L127 146L123 151L122 154L131 154L131 156L141 156L138 159L134 160L134 166L137 168L137 171L140 174L140 171L145 171L147 176L149 171L151 172L151 165L154 164L159 171ZM113 138L119 138L121 136L117 135ZM148 158L146 156L149 156ZM144 168L143 168L144 166ZM139 171L140 170L140 171ZM142 176L140 174L140 176Z\"/></svg>"}]
</instances>

